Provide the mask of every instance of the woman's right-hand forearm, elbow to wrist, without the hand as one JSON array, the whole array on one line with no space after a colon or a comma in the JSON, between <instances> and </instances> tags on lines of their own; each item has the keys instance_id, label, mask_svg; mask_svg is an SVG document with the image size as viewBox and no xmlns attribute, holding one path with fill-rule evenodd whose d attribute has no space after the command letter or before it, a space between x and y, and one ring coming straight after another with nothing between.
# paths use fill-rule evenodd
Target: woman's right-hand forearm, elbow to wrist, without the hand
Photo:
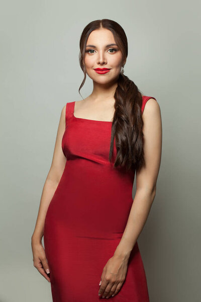
<instances>
[{"instance_id":1,"label":"woman's right-hand forearm, elbow to wrist, without the hand","mask_svg":"<svg viewBox=\"0 0 201 302\"><path fill-rule=\"evenodd\" d=\"M128 222L115 255L129 259L130 253L145 225L154 197L155 190L136 191Z\"/></svg>"}]
</instances>

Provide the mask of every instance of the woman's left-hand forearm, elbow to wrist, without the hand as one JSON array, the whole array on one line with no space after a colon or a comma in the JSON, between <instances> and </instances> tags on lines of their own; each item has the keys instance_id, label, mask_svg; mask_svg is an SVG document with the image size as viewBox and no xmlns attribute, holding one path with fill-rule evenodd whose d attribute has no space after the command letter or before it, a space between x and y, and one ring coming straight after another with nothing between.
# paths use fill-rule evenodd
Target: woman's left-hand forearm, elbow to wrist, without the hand
<instances>
[{"instance_id":1,"label":"woman's left-hand forearm, elbow to wrist, without the hand","mask_svg":"<svg viewBox=\"0 0 201 302\"><path fill-rule=\"evenodd\" d=\"M58 182L52 181L50 179L46 179L44 187L43 187L42 195L41 195L35 230L32 235L32 241L34 240L35 242L36 241L40 242L42 240L45 216L46 216L48 206L54 195L54 192L56 191L57 186L58 186Z\"/></svg>"}]
</instances>

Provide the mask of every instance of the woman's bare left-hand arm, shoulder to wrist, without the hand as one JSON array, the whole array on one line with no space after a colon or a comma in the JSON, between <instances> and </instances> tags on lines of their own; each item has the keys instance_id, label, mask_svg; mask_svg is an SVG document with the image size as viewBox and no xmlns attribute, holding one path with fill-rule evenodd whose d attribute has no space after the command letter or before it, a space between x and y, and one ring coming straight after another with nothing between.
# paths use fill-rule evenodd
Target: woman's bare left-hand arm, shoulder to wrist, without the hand
<instances>
[{"instance_id":1,"label":"woman's bare left-hand arm, shoulder to wrist, without the hand","mask_svg":"<svg viewBox=\"0 0 201 302\"><path fill-rule=\"evenodd\" d=\"M62 137L65 131L65 108L66 106L64 106L61 111L52 164L43 187L35 230L32 235L32 243L41 243L46 212L66 164L66 157L61 147Z\"/></svg>"}]
</instances>

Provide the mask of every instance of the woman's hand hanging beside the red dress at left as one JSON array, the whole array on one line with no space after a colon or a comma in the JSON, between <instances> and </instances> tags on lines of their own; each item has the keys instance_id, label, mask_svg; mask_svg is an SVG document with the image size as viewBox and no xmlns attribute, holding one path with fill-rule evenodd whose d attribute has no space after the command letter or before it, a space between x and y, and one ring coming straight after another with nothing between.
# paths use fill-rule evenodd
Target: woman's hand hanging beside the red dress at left
<instances>
[{"instance_id":1,"label":"woman's hand hanging beside the red dress at left","mask_svg":"<svg viewBox=\"0 0 201 302\"><path fill-rule=\"evenodd\" d=\"M49 266L42 243L32 241L32 252L34 266L37 268L39 273L41 273L41 275L50 282L50 278L47 275L50 273Z\"/></svg>"}]
</instances>

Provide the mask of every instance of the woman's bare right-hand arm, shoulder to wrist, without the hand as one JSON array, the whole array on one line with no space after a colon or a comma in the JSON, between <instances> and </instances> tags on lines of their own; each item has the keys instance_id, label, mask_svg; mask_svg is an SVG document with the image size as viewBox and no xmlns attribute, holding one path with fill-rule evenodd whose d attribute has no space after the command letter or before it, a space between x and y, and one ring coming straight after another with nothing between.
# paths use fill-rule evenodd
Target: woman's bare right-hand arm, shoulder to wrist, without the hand
<instances>
[{"instance_id":1,"label":"woman's bare right-hand arm, shoulder to wrist, without the hand","mask_svg":"<svg viewBox=\"0 0 201 302\"><path fill-rule=\"evenodd\" d=\"M136 194L128 222L115 255L125 260L142 232L156 195L156 182L161 162L162 122L160 107L149 99L143 112L144 155L146 166L136 171Z\"/></svg>"}]
</instances>

